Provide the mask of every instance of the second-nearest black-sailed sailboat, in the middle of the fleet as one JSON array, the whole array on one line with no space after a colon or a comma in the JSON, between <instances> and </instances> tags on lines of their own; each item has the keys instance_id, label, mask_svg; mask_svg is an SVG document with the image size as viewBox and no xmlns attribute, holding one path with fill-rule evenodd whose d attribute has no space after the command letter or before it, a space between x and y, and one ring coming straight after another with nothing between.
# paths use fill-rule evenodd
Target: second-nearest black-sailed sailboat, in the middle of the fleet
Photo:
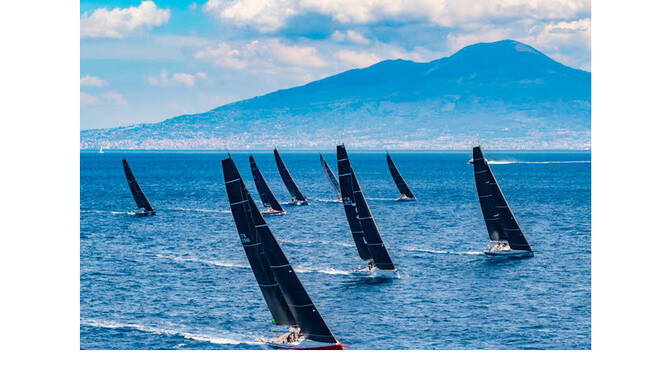
<instances>
[{"instance_id":1,"label":"second-nearest black-sailed sailboat, in the middle of the fleet","mask_svg":"<svg viewBox=\"0 0 660 368\"><path fill-rule=\"evenodd\" d=\"M341 198L353 240L360 258L369 262L366 271L396 272L343 144L337 146L337 167Z\"/></svg>"}]
</instances>

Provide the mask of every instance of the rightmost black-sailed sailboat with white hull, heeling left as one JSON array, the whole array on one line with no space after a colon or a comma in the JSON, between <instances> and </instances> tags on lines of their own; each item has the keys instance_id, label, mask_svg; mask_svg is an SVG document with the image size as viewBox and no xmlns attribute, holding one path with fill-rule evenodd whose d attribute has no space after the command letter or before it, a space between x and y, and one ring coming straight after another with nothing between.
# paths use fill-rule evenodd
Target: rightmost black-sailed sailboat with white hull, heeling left
<instances>
[{"instance_id":1,"label":"rightmost black-sailed sailboat with white hull, heeling left","mask_svg":"<svg viewBox=\"0 0 660 368\"><path fill-rule=\"evenodd\" d=\"M472 164L481 212L490 237L485 253L491 256L533 256L534 252L520 230L480 146L472 149Z\"/></svg>"}]
</instances>

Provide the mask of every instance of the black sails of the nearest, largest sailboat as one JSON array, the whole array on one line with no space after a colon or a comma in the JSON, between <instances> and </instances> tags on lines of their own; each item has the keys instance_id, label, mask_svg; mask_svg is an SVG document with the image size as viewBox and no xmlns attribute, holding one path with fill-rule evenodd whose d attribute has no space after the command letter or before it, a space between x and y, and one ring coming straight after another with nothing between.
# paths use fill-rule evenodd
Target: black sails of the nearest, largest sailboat
<instances>
[{"instance_id":1,"label":"black sails of the nearest, largest sailboat","mask_svg":"<svg viewBox=\"0 0 660 368\"><path fill-rule=\"evenodd\" d=\"M268 275L272 276L272 280L270 280L270 284L264 284L264 287L278 290L282 298L277 299L276 307L284 309L283 306L286 306L286 310L289 311L286 314L287 320L282 320L281 324L299 327L300 334L310 340L338 343L247 192L233 160L231 158L223 160L222 169L232 214L246 254L248 249L256 248L263 251L260 253L263 255L263 259L259 259L256 269L250 262L255 277L257 277L256 270L268 270L270 272ZM268 280L262 281L269 282ZM257 277L260 287L262 281ZM266 297L265 293L264 297ZM268 299L266 301L268 303ZM271 308L270 304L269 308ZM271 309L271 313L275 318L273 309Z\"/></svg>"}]
</instances>

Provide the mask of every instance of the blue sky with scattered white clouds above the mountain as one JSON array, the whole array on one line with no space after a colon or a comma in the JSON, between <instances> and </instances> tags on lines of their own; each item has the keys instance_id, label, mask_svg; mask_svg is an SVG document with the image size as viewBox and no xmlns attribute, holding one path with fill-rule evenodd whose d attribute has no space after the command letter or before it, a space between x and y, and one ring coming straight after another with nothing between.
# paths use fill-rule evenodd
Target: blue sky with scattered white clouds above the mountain
<instances>
[{"instance_id":1,"label":"blue sky with scattered white clouds above the mountain","mask_svg":"<svg viewBox=\"0 0 660 368\"><path fill-rule=\"evenodd\" d=\"M591 3L209 0L80 3L80 128L155 123L387 59L514 39L591 70Z\"/></svg>"}]
</instances>

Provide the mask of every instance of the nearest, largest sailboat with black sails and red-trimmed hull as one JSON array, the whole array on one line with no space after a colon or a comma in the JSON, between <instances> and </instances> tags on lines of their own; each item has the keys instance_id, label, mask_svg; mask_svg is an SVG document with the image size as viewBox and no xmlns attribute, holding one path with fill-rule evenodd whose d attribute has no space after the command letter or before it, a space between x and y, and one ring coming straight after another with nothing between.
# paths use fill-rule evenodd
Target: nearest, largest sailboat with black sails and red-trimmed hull
<instances>
[{"instance_id":1,"label":"nearest, largest sailboat with black sails and red-trimmed hull","mask_svg":"<svg viewBox=\"0 0 660 368\"><path fill-rule=\"evenodd\" d=\"M289 332L268 342L276 349L343 350L248 193L231 157L222 160L229 205L250 267L266 305Z\"/></svg>"}]
</instances>

